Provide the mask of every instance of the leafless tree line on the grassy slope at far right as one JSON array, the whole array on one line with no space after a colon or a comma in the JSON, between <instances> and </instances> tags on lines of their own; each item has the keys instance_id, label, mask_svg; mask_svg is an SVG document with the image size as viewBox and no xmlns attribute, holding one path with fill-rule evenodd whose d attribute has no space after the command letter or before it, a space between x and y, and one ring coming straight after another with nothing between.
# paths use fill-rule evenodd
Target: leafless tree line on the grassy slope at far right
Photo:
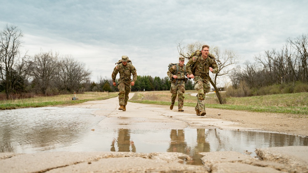
<instances>
[{"instance_id":1,"label":"leafless tree line on the grassy slope at far right","mask_svg":"<svg viewBox=\"0 0 308 173\"><path fill-rule=\"evenodd\" d=\"M245 84L248 88L308 82L308 34L288 38L279 50L265 50L254 57L255 62L245 61L229 73L233 88ZM246 94L249 96L249 93Z\"/></svg>"}]
</instances>

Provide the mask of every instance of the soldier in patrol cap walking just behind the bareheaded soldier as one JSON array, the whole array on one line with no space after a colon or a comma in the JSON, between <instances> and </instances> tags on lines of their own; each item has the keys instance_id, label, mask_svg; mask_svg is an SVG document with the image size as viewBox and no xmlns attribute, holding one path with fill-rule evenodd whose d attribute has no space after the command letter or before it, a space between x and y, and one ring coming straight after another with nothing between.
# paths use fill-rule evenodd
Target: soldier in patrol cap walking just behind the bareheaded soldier
<instances>
[{"instance_id":1,"label":"soldier in patrol cap walking just behind the bareheaded soldier","mask_svg":"<svg viewBox=\"0 0 308 173\"><path fill-rule=\"evenodd\" d=\"M178 94L178 111L183 112L183 104L184 104L184 96L185 92L185 75L189 77L188 73L186 73L186 67L184 65L184 57L179 58L179 63L177 65L173 65L167 72L167 75L171 79L171 106L170 109L173 109L173 105L176 99L176 95Z\"/></svg>"}]
</instances>

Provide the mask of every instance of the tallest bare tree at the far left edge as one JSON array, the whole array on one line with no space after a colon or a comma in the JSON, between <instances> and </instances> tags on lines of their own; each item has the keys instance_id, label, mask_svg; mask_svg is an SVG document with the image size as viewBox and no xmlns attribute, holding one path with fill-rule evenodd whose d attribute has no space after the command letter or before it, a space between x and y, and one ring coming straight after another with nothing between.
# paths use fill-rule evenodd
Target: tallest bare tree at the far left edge
<instances>
[{"instance_id":1,"label":"tallest bare tree at the far left edge","mask_svg":"<svg viewBox=\"0 0 308 173\"><path fill-rule=\"evenodd\" d=\"M0 75L5 83L6 99L9 99L18 79L24 76L27 70L27 56L20 56L22 37L22 31L14 25L6 25L0 31Z\"/></svg>"}]
</instances>

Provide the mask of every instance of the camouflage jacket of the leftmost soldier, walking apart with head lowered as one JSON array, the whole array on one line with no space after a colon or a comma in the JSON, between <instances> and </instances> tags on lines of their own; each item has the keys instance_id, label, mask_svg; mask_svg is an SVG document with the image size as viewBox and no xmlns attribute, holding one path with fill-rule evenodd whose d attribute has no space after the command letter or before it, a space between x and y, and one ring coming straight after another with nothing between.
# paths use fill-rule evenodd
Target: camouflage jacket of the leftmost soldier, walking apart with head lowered
<instances>
[{"instance_id":1,"label":"camouflage jacket of the leftmost soldier, walking apart with head lowered","mask_svg":"<svg viewBox=\"0 0 308 173\"><path fill-rule=\"evenodd\" d=\"M115 82L115 77L118 73L120 73L119 81L120 80L131 81L132 75L133 75L133 82L136 82L137 80L137 70L131 63L127 63L126 65L120 63L117 66L115 66L111 75L113 82Z\"/></svg>"}]
</instances>

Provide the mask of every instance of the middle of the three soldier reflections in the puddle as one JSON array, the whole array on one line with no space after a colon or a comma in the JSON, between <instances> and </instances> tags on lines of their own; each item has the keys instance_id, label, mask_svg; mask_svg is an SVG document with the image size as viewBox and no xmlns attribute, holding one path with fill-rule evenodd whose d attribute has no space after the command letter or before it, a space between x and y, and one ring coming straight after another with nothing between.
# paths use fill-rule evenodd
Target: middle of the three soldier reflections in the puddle
<instances>
[{"instance_id":1,"label":"middle of the three soldier reflections in the puddle","mask_svg":"<svg viewBox=\"0 0 308 173\"><path fill-rule=\"evenodd\" d=\"M185 135L183 130L171 130L170 132L170 147L167 152L180 152L184 154L189 154L189 149L185 142Z\"/></svg>"}]
</instances>

